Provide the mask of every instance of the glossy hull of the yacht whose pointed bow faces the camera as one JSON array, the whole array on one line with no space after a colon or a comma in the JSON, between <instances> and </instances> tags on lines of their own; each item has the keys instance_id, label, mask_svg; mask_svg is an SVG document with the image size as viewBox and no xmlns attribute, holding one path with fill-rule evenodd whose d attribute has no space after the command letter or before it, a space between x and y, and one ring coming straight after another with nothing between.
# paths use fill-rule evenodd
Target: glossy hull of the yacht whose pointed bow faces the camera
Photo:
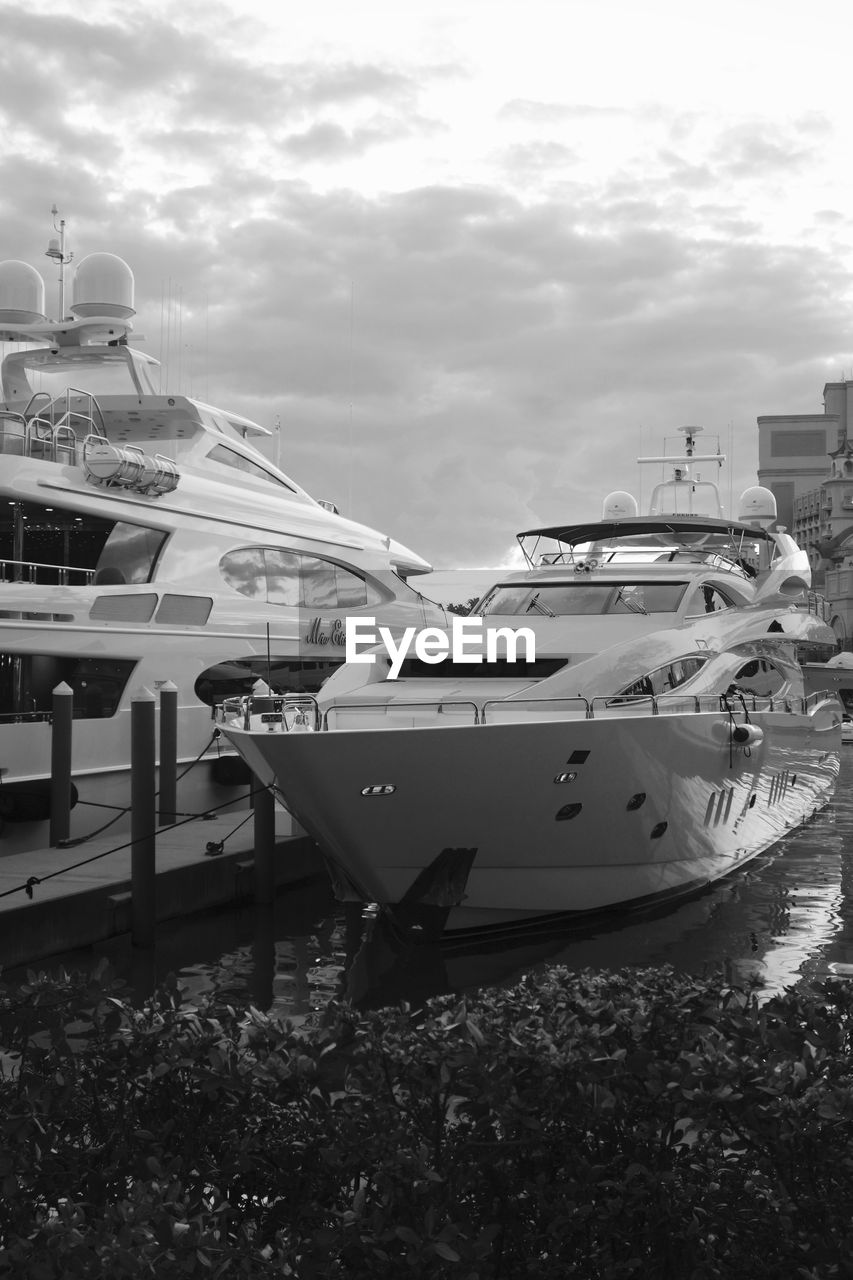
<instances>
[{"instance_id":1,"label":"glossy hull of the yacht whose pointed bow faces the camera","mask_svg":"<svg viewBox=\"0 0 853 1280\"><path fill-rule=\"evenodd\" d=\"M757 712L747 745L725 713L225 733L339 896L523 916L674 896L743 865L831 796L839 721L835 699ZM455 855L457 874L470 863L456 895Z\"/></svg>"}]
</instances>

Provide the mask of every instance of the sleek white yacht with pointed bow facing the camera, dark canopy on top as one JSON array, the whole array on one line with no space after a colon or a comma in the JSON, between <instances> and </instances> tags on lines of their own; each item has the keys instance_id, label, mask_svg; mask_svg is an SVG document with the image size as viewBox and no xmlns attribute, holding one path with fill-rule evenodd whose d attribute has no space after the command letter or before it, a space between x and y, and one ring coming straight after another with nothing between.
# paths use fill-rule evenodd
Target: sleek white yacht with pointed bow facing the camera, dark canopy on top
<instances>
[{"instance_id":1,"label":"sleek white yacht with pointed bow facing the camera, dark canopy on top","mask_svg":"<svg viewBox=\"0 0 853 1280\"><path fill-rule=\"evenodd\" d=\"M808 558L768 490L724 516L694 471L722 456L685 430L678 456L640 460L674 468L648 515L612 493L601 521L519 535L526 570L473 611L498 628L491 652L471 626L456 660L430 635L402 662L348 663L315 732L287 708L225 723L341 897L446 928L649 904L743 865L831 796L841 708L803 663L820 671L838 644ZM535 650L520 659L523 631Z\"/></svg>"}]
</instances>

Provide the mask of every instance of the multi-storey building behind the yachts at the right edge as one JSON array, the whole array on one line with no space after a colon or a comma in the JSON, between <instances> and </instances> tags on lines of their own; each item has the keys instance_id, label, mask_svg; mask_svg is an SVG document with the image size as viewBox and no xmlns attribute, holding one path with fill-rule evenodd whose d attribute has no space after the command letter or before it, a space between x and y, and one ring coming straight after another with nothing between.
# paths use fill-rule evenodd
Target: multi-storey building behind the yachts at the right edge
<instances>
[{"instance_id":1,"label":"multi-storey building behind the yachts at the right edge","mask_svg":"<svg viewBox=\"0 0 853 1280\"><path fill-rule=\"evenodd\" d=\"M758 484L808 552L835 632L853 649L853 381L825 385L822 413L758 419Z\"/></svg>"}]
</instances>

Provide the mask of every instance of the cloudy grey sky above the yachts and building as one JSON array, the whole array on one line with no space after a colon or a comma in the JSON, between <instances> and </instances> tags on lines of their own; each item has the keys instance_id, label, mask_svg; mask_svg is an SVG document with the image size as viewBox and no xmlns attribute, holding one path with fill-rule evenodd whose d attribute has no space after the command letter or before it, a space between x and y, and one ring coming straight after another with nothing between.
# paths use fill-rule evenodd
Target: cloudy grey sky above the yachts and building
<instances>
[{"instance_id":1,"label":"cloudy grey sky above the yachts and building","mask_svg":"<svg viewBox=\"0 0 853 1280\"><path fill-rule=\"evenodd\" d=\"M853 376L849 4L0 0L0 259L439 567Z\"/></svg>"}]
</instances>

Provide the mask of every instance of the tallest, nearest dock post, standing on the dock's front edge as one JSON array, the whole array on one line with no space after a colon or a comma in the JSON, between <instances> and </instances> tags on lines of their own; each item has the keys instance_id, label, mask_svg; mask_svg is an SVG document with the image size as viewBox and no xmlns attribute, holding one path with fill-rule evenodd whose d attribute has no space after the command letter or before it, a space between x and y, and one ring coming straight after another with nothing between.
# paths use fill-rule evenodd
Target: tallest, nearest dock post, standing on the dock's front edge
<instances>
[{"instance_id":1,"label":"tallest, nearest dock post, standing on the dock's front edge","mask_svg":"<svg viewBox=\"0 0 853 1280\"><path fill-rule=\"evenodd\" d=\"M141 689L131 701L131 941L152 947L156 925L156 769L154 694Z\"/></svg>"}]
</instances>

